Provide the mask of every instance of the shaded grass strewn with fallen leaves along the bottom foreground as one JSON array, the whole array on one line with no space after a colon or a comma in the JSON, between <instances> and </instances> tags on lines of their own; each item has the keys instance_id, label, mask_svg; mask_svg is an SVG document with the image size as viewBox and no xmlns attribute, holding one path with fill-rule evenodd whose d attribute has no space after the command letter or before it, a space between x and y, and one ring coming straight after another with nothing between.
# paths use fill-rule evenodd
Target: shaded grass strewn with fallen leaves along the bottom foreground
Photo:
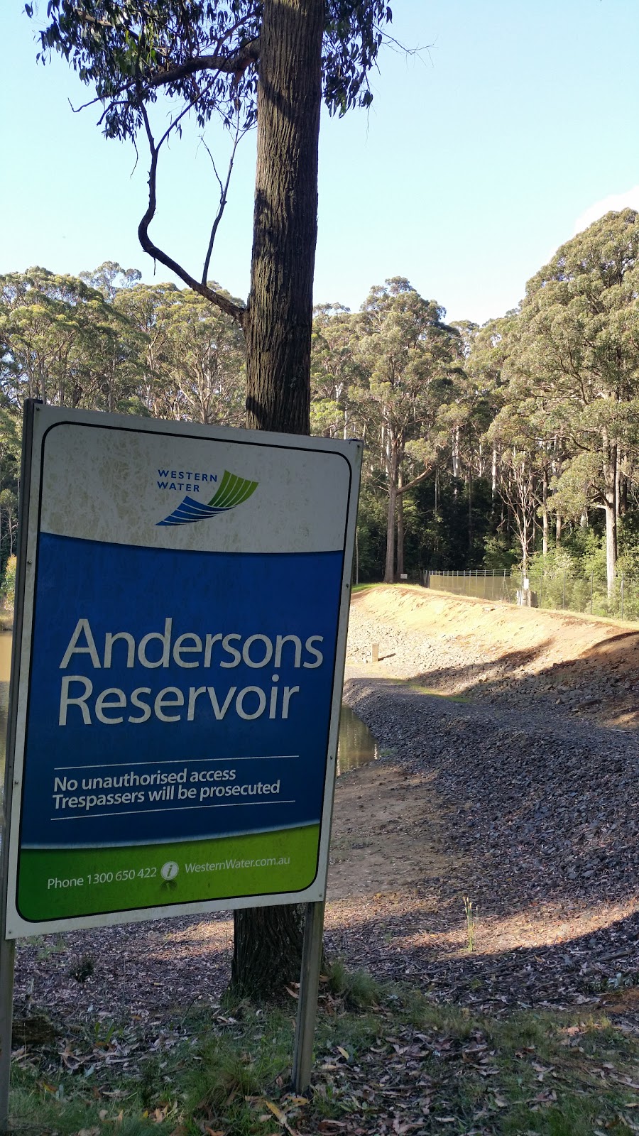
<instances>
[{"instance_id":1,"label":"shaded grass strewn with fallen leaves along the bottom foreground","mask_svg":"<svg viewBox=\"0 0 639 1136\"><path fill-rule=\"evenodd\" d=\"M639 1130L639 1039L601 1014L490 1018L334 963L322 983L313 1088L300 1099L289 1089L294 1011L293 999L277 1010L200 1006L152 1049L143 1027L136 1038L130 1024L101 1027L108 1041L97 1047L88 1022L60 1044L61 1062L53 1052L16 1055L15 1128L34 1136ZM72 1052L82 1058L74 1072L65 1068Z\"/></svg>"}]
</instances>

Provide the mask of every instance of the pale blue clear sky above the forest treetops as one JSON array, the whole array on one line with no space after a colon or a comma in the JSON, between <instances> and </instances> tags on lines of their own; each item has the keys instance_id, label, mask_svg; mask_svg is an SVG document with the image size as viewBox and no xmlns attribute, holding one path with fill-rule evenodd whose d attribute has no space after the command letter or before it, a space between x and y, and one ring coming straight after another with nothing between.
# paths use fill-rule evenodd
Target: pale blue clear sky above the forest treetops
<instances>
[{"instance_id":1,"label":"pale blue clear sky above the forest treetops","mask_svg":"<svg viewBox=\"0 0 639 1136\"><path fill-rule=\"evenodd\" d=\"M368 111L324 114L316 302L357 309L407 277L448 318L515 307L563 242L608 209L639 209L637 0L395 0ZM105 140L99 110L56 58L36 64L20 0L2 0L0 274L76 274L105 260L169 278L138 244L144 154ZM216 159L226 141L207 135ZM249 287L255 135L236 158L209 276ZM210 159L188 133L158 179L151 236L196 276L216 206Z\"/></svg>"}]
</instances>

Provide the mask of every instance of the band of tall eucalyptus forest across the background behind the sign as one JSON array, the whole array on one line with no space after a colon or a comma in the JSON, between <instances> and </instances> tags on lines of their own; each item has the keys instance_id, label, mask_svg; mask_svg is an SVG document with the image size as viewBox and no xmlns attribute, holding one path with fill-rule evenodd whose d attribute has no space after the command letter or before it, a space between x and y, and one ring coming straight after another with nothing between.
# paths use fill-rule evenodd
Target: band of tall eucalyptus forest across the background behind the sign
<instances>
[{"instance_id":1,"label":"band of tall eucalyptus forest across the background behind the sign","mask_svg":"<svg viewBox=\"0 0 639 1136\"><path fill-rule=\"evenodd\" d=\"M481 327L447 323L401 276L357 312L315 308L312 432L366 448L359 580L543 566L596 576L614 610L620 574L639 566L638 257L639 214L625 209L562 245L520 307ZM116 262L0 276L0 340L2 571L24 399L244 424L242 328Z\"/></svg>"}]
</instances>

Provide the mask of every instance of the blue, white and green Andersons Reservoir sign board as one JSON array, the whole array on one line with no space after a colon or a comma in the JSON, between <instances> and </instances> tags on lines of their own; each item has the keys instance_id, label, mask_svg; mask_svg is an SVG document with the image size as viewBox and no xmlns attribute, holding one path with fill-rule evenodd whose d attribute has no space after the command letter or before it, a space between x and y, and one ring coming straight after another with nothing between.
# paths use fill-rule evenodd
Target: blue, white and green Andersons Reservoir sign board
<instances>
[{"instance_id":1,"label":"blue, white and green Andersons Reservoir sign board","mask_svg":"<svg viewBox=\"0 0 639 1136\"><path fill-rule=\"evenodd\" d=\"M322 900L360 443L27 412L7 937Z\"/></svg>"}]
</instances>

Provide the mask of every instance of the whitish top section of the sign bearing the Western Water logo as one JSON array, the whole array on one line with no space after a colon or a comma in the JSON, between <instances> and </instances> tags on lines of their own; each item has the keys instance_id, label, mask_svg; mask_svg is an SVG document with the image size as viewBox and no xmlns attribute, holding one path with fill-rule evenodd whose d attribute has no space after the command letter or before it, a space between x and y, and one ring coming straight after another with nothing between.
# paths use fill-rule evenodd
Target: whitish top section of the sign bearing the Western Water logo
<instances>
[{"instance_id":1,"label":"whitish top section of the sign bearing the Western Water logo","mask_svg":"<svg viewBox=\"0 0 639 1136\"><path fill-rule=\"evenodd\" d=\"M197 426L176 436L182 424L149 421L161 426L156 432L143 419L103 417L101 426L48 407L35 416L35 438L45 435L43 532L185 551L342 548L350 467L325 440L296 438L291 448L277 434ZM208 504L225 471L258 483L247 501L205 520L158 525L185 500Z\"/></svg>"}]
</instances>

